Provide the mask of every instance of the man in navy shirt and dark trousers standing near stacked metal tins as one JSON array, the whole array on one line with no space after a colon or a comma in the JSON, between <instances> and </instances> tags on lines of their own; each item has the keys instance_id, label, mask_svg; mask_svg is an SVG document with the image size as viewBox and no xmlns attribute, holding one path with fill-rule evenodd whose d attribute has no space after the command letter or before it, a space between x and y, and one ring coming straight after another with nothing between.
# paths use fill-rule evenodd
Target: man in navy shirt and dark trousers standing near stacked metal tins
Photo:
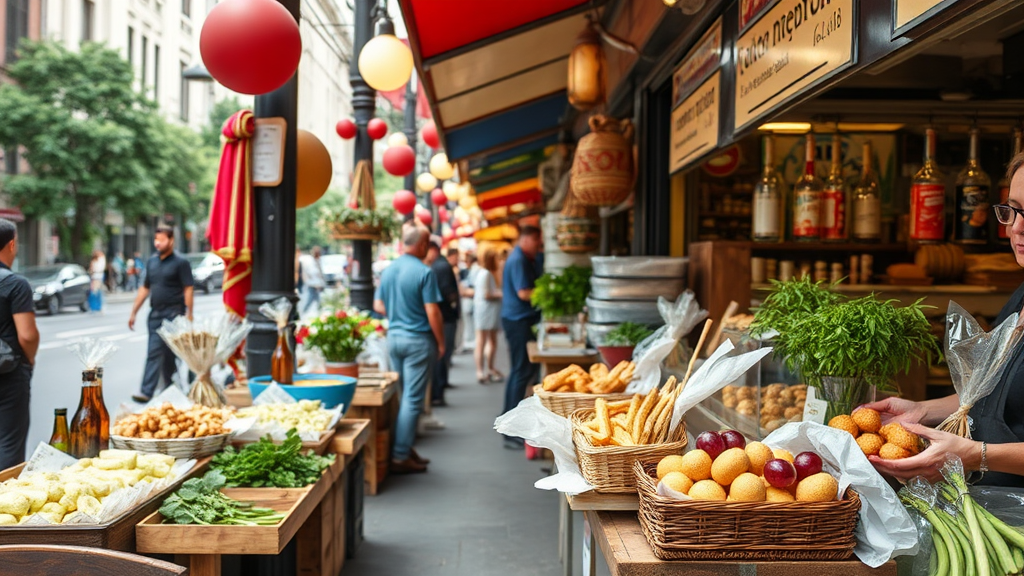
<instances>
[{"instance_id":1,"label":"man in navy shirt and dark trousers standing near stacked metal tins","mask_svg":"<svg viewBox=\"0 0 1024 576\"><path fill-rule=\"evenodd\" d=\"M541 231L525 225L519 231L519 243L505 262L502 286L502 329L509 345L511 370L505 383L505 410L515 408L526 396L526 386L537 382L538 365L529 362L526 342L536 340L534 325L541 313L529 303L534 285L540 276L538 256L541 251ZM505 439L505 447L522 448L521 439Z\"/></svg>"}]
</instances>

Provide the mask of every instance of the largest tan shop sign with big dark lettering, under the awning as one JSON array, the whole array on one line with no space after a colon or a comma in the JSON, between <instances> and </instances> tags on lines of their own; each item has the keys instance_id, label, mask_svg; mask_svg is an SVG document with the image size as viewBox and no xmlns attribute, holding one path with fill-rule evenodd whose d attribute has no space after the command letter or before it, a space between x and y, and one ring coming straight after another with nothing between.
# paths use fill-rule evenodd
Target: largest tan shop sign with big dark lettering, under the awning
<instances>
[{"instance_id":1,"label":"largest tan shop sign with big dark lettering, under the awning","mask_svg":"<svg viewBox=\"0 0 1024 576\"><path fill-rule=\"evenodd\" d=\"M739 130L854 61L853 0L783 0L736 41Z\"/></svg>"}]
</instances>

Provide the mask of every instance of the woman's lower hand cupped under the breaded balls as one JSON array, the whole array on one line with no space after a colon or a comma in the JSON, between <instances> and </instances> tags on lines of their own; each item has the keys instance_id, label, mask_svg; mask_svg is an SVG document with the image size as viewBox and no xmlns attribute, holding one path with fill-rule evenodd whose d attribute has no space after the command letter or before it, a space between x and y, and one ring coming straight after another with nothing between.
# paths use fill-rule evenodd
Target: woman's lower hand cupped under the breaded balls
<instances>
[{"instance_id":1,"label":"woman's lower hand cupped under the breaded balls","mask_svg":"<svg viewBox=\"0 0 1024 576\"><path fill-rule=\"evenodd\" d=\"M874 467L880 472L903 482L915 476L923 476L929 482L935 482L942 480L942 474L939 470L942 468L942 464L945 463L947 454L959 456L961 460L964 461L965 472L979 468L981 464L980 442L961 438L956 435L940 431L921 424L906 423L903 424L903 427L924 438L931 444L921 454L901 460L883 460L878 456L869 456L867 459L874 464Z\"/></svg>"}]
</instances>

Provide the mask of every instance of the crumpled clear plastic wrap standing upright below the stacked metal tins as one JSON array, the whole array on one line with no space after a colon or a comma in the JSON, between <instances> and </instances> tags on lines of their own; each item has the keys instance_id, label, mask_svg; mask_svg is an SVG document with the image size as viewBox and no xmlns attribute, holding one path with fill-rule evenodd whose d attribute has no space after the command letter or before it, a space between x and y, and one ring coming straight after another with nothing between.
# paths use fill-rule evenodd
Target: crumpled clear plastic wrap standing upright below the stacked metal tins
<instances>
[{"instance_id":1,"label":"crumpled clear plastic wrap standing upright below the stacked metal tins","mask_svg":"<svg viewBox=\"0 0 1024 576\"><path fill-rule=\"evenodd\" d=\"M680 294L675 302L658 298L657 308L665 319L665 326L637 344L633 351L633 358L637 359L636 378L626 388L629 394L645 394L660 384L662 363L683 336L708 318L708 311L700 308L691 290ZM723 382L722 385L727 383Z\"/></svg>"}]
</instances>

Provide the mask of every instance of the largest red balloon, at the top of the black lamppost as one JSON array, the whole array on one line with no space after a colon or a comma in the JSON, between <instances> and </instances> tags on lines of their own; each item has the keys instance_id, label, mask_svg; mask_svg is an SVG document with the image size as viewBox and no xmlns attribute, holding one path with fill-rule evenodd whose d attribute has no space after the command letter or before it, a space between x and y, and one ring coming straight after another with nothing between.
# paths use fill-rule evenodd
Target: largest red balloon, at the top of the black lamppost
<instances>
[{"instance_id":1,"label":"largest red balloon, at the top of the black lamppost","mask_svg":"<svg viewBox=\"0 0 1024 576\"><path fill-rule=\"evenodd\" d=\"M275 0L224 0L206 16L199 50L217 82L243 94L263 94L295 75L302 37Z\"/></svg>"}]
</instances>

